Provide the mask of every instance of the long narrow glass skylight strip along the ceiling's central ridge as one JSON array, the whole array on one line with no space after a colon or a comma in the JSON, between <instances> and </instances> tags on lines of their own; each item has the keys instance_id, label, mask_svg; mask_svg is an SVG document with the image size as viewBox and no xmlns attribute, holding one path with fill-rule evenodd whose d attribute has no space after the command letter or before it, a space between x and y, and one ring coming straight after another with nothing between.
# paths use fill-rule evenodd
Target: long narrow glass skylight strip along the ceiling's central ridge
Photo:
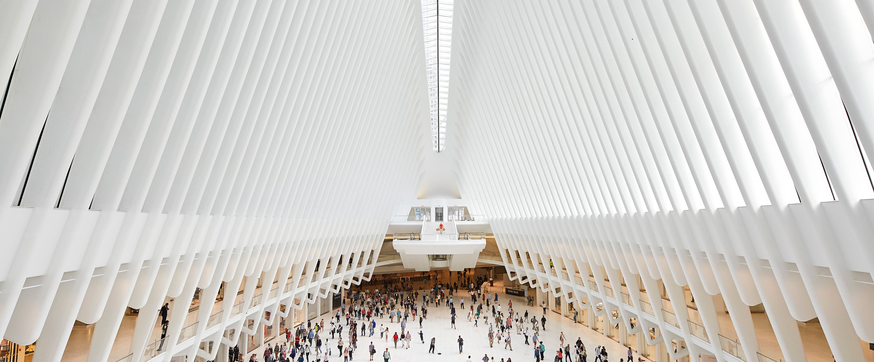
<instances>
[{"instance_id":1,"label":"long narrow glass skylight strip along the ceiling's central ridge","mask_svg":"<svg viewBox=\"0 0 874 362\"><path fill-rule=\"evenodd\" d=\"M425 69L428 81L428 107L431 142L440 152L446 144L446 114L449 91L449 56L452 45L452 6L454 0L422 0L425 31Z\"/></svg>"}]
</instances>

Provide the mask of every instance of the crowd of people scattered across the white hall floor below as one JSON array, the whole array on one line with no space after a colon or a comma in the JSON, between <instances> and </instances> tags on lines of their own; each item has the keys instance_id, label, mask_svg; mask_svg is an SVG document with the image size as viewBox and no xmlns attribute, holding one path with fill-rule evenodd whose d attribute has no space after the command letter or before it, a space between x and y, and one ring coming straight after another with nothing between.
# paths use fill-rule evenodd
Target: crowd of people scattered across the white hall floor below
<instances>
[{"instance_id":1,"label":"crowd of people scattered across the white hall floor below","mask_svg":"<svg viewBox=\"0 0 874 362\"><path fill-rule=\"evenodd\" d=\"M353 360L353 355L357 354L358 338L374 338L377 333L378 338L390 342L390 346L393 345L395 349L409 349L415 334L419 335L420 343L424 345L426 330L422 329L423 321L427 320L428 308L431 307L448 308L449 328L457 328L460 315L465 313L468 323L472 323L474 327L479 328L481 327L479 324L482 323L483 334L488 338L489 347L495 347L497 342L498 347L503 343L504 350L513 351L511 342L515 331L517 336L524 338L524 345L527 345L527 348L533 348L535 362L545 360L550 354L546 351L541 338L542 331L546 331L545 308L541 316L535 316L529 314L528 310L524 312L514 310L512 301L508 300L504 309L504 301L499 300L498 293L489 293L489 287L484 285L488 282L487 278L482 275L473 276L473 273L468 275L468 270L455 272L455 275L456 277L452 278L450 272L448 281L440 281L437 275L431 274L413 276L416 280L408 277L383 278L382 288L373 291L364 289L366 286L359 286L354 291L349 291L348 297L343 299L340 310L329 319L327 325L323 319L318 323L309 321L301 324L295 329L294 338L291 336L292 332L286 330L284 333L286 341L281 344L268 344L263 352L263 360L264 362L310 362L311 360L329 362L329 359L339 361L342 358L343 362L349 362ZM424 285L413 290L413 282L424 282ZM461 294L459 294L460 287L464 289ZM420 331L411 333L410 323L418 323ZM387 324L392 324L392 328L396 331L392 332ZM428 353L435 352L436 337L429 338ZM586 345L581 338L577 338L575 343L570 343L565 340L565 334L562 332L558 339L554 362L588 362ZM463 354L464 338L459 335L456 342L459 354ZM328 347L329 343L336 343L336 355L333 354L332 348ZM366 347L370 360L373 360L374 355L378 353L375 345L371 342ZM379 353L385 362L389 362L392 358L388 347ZM593 362L607 362L607 348L599 345L593 353ZM239 349L235 347L230 350L229 357L231 361L239 360ZM629 347L628 359L619 359L619 361L630 362L632 357L632 350ZM488 355L484 356L482 361L511 362L510 358L496 361L494 357ZM642 359L638 358L638 362L641 361ZM260 359L253 354L249 362L260 362ZM470 356L468 362L471 362Z\"/></svg>"}]
</instances>

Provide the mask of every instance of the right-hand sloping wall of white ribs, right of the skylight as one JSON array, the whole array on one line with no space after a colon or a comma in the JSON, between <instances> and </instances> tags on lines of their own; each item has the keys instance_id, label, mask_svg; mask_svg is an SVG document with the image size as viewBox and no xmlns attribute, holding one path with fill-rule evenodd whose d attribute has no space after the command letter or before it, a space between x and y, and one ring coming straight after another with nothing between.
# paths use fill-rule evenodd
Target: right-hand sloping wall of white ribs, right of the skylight
<instances>
[{"instance_id":1,"label":"right-hand sloping wall of white ribs, right of the skylight","mask_svg":"<svg viewBox=\"0 0 874 362\"><path fill-rule=\"evenodd\" d=\"M670 359L760 360L754 307L767 357L808 359L796 321L818 318L862 360L870 20L850 0L456 1L461 194L512 279Z\"/></svg>"}]
</instances>

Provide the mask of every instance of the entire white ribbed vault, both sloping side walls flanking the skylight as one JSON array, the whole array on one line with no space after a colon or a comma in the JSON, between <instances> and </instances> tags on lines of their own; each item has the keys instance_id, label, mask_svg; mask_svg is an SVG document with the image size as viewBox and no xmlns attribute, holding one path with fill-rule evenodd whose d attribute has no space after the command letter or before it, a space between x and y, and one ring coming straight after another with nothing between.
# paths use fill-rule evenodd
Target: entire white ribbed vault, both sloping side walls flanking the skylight
<instances>
[{"instance_id":1,"label":"entire white ribbed vault, both sloping side walls flanking the skylight","mask_svg":"<svg viewBox=\"0 0 874 362\"><path fill-rule=\"evenodd\" d=\"M457 181L513 279L670 359L766 361L750 306L773 359L817 360L815 318L864 359L874 4L456 0L440 154L422 5L0 1L3 338L57 362L95 324L104 362L133 308L125 362L216 359L369 279L399 200Z\"/></svg>"}]
</instances>

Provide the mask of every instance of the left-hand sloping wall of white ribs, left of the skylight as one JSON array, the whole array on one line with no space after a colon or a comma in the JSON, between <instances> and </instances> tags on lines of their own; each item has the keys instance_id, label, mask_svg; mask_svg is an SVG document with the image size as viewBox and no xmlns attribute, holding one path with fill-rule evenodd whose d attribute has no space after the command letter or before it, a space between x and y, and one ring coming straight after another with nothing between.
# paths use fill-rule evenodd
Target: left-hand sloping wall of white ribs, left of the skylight
<instances>
[{"instance_id":1,"label":"left-hand sloping wall of white ribs, left of the skylight","mask_svg":"<svg viewBox=\"0 0 874 362\"><path fill-rule=\"evenodd\" d=\"M0 332L35 361L77 320L106 361L128 307L130 362L213 360L370 279L430 148L420 1L38 0L0 22Z\"/></svg>"}]
</instances>

